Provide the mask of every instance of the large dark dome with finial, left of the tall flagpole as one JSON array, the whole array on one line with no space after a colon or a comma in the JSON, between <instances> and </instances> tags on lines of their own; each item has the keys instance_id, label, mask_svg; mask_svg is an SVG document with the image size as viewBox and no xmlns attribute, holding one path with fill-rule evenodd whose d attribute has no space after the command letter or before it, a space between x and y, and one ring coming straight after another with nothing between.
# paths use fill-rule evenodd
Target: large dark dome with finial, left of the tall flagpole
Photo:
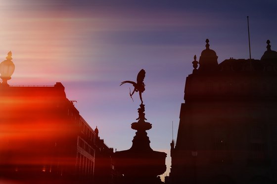
<instances>
[{"instance_id":1,"label":"large dark dome with finial, left of the tall flagpole","mask_svg":"<svg viewBox=\"0 0 277 184\"><path fill-rule=\"evenodd\" d=\"M199 71L212 72L218 70L218 56L210 49L209 39L206 39L206 49L201 52L199 58Z\"/></svg>"}]
</instances>

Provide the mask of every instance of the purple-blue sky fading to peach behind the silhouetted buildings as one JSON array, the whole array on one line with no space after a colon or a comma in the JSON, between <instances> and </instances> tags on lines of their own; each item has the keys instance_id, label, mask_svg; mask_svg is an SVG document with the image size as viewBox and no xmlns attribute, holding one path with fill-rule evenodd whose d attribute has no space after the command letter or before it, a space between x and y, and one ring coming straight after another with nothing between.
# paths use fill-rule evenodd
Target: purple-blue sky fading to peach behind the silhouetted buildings
<instances>
[{"instance_id":1,"label":"purple-blue sky fading to peach behind the silhouetted buildings","mask_svg":"<svg viewBox=\"0 0 277 184\"><path fill-rule=\"evenodd\" d=\"M185 77L209 38L225 59L277 50L276 0L0 0L0 59L12 51L9 84L62 82L67 98L109 147L132 146L139 94L124 80L146 71L150 146L167 155L176 140ZM173 122L173 135L172 135Z\"/></svg>"}]
</instances>

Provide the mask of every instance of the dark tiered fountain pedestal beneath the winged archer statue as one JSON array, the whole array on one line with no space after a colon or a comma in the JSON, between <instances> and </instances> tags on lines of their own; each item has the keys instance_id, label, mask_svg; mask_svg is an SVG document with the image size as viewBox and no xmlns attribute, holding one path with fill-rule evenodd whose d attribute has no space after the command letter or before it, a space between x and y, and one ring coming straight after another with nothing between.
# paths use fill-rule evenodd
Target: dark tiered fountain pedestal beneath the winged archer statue
<instances>
[{"instance_id":1,"label":"dark tiered fountain pedestal beneath the winged archer statue","mask_svg":"<svg viewBox=\"0 0 277 184\"><path fill-rule=\"evenodd\" d=\"M146 130L152 125L145 122L144 105L139 108L139 121L132 123L132 129L137 130L133 145L128 150L114 153L116 169L122 173L121 184L158 184L158 175L166 171L165 152L154 151L150 147Z\"/></svg>"}]
</instances>

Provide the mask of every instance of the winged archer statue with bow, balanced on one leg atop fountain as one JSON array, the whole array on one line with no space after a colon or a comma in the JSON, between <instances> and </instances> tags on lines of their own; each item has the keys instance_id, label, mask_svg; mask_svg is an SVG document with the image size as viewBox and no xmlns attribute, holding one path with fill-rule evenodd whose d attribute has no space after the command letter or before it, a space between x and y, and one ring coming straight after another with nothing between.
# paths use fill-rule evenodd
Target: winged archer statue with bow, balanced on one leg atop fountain
<instances>
[{"instance_id":1,"label":"winged archer statue with bow, balanced on one leg atop fountain","mask_svg":"<svg viewBox=\"0 0 277 184\"><path fill-rule=\"evenodd\" d=\"M135 91L139 92L139 98L140 98L141 104L143 103L142 97L141 97L141 93L143 93L143 91L145 90L145 87L144 87L145 85L143 83L144 77L145 77L145 71L143 69L141 69L139 71L138 76L137 76L137 83L134 82L134 81L126 80L126 81L121 82L121 84L120 84L120 85L125 84L125 83L133 84L134 90L133 90L132 93L131 93L131 90L130 90L130 97L132 98L132 96L134 95ZM133 98L132 98L132 100L133 100Z\"/></svg>"}]
</instances>

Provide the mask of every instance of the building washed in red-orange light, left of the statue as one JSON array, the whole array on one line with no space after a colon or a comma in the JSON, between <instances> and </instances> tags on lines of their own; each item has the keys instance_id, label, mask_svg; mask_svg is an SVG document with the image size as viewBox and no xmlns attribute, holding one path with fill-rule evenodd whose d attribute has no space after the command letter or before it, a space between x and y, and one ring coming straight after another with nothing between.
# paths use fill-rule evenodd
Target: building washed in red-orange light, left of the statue
<instances>
[{"instance_id":1,"label":"building washed in red-orange light, left of the statue","mask_svg":"<svg viewBox=\"0 0 277 184\"><path fill-rule=\"evenodd\" d=\"M114 183L113 148L69 101L64 86L0 85L0 181ZM8 182L6 182L8 183Z\"/></svg>"}]
</instances>

